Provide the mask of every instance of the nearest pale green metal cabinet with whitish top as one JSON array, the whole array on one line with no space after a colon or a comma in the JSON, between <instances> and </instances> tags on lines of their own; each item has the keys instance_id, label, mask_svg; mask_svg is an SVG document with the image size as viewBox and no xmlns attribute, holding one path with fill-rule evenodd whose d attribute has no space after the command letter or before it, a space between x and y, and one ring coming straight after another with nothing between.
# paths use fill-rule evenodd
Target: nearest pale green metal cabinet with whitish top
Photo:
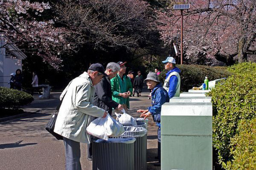
<instances>
[{"instance_id":1,"label":"nearest pale green metal cabinet with whitish top","mask_svg":"<svg viewBox=\"0 0 256 170\"><path fill-rule=\"evenodd\" d=\"M212 170L212 155L212 104L163 104L161 170Z\"/></svg>"}]
</instances>

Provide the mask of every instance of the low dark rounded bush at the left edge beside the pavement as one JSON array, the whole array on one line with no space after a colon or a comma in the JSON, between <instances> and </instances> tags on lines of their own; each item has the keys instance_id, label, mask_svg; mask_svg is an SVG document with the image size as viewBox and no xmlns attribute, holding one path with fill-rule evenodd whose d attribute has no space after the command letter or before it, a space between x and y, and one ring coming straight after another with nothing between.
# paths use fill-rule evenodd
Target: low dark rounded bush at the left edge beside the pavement
<instances>
[{"instance_id":1,"label":"low dark rounded bush at the left edge beside the pavement","mask_svg":"<svg viewBox=\"0 0 256 170\"><path fill-rule=\"evenodd\" d=\"M31 103L33 100L33 96L24 91L0 87L0 108L2 109L16 109L20 106Z\"/></svg>"}]
</instances>

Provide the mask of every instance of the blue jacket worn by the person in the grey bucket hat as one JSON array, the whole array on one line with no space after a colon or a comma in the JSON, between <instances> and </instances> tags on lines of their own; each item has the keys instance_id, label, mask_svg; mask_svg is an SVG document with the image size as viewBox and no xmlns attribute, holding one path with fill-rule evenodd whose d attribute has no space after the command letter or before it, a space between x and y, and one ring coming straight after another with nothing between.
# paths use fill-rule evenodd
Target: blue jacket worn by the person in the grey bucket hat
<instances>
[{"instance_id":1,"label":"blue jacket worn by the person in the grey bucket hat","mask_svg":"<svg viewBox=\"0 0 256 170\"><path fill-rule=\"evenodd\" d=\"M165 102L169 102L169 96L167 91L162 87L161 83L158 83L151 92L151 104L148 111L152 114L153 120L157 126L160 125L161 120L161 108Z\"/></svg>"}]
</instances>

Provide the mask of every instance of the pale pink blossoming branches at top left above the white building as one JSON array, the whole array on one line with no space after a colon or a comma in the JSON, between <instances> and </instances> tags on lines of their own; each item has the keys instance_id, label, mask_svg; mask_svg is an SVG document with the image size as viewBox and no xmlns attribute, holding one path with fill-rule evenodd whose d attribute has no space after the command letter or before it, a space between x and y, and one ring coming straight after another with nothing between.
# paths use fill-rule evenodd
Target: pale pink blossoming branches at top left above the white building
<instances>
[{"instance_id":1,"label":"pale pink blossoming branches at top left above the white building","mask_svg":"<svg viewBox=\"0 0 256 170\"><path fill-rule=\"evenodd\" d=\"M6 44L15 44L21 51L41 56L54 68L61 64L59 55L69 51L73 44L67 42L70 31L55 27L53 19L46 19L49 3L22 0L0 1L0 32Z\"/></svg>"}]
</instances>

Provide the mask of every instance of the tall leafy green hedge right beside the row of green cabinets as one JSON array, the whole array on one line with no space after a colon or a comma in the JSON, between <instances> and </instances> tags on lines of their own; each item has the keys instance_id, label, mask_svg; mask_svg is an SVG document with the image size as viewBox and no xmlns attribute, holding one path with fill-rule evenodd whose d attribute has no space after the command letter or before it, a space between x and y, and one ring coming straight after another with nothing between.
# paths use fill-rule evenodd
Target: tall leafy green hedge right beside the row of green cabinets
<instances>
[{"instance_id":1,"label":"tall leafy green hedge right beside the row of green cabinets","mask_svg":"<svg viewBox=\"0 0 256 170\"><path fill-rule=\"evenodd\" d=\"M213 146L218 152L218 161L225 167L233 159L230 140L237 134L238 122L256 116L256 69L251 63L243 63L228 68L235 73L223 85L208 93L213 103ZM247 71L247 69L250 71ZM256 67L255 67L256 68Z\"/></svg>"}]
</instances>

